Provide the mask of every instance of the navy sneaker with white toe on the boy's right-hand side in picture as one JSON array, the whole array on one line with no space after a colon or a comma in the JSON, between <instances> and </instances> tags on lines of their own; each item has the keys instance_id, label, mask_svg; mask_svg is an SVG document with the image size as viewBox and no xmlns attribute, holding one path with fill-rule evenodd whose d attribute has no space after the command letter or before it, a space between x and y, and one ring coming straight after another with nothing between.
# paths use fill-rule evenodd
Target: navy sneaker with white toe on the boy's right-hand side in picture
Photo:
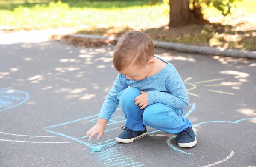
<instances>
[{"instance_id":1,"label":"navy sneaker with white toe on the boy's right-hand side in picture","mask_svg":"<svg viewBox=\"0 0 256 167\"><path fill-rule=\"evenodd\" d=\"M179 146L182 148L193 147L197 143L195 132L192 127L188 127L181 131L175 139L177 143L179 143Z\"/></svg>"}]
</instances>

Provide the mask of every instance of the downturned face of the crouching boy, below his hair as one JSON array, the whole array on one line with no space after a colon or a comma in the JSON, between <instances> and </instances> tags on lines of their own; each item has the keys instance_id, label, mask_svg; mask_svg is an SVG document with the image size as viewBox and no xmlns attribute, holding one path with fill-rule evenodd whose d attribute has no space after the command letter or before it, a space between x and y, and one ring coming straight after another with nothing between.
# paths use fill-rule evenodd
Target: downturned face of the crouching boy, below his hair
<instances>
[{"instance_id":1,"label":"downturned face of the crouching boy, below his hair","mask_svg":"<svg viewBox=\"0 0 256 167\"><path fill-rule=\"evenodd\" d=\"M133 79L135 81L141 81L148 77L151 72L151 63L147 64L145 67L139 68L133 64L129 65L125 70L119 71L120 74L126 75L127 79Z\"/></svg>"}]
</instances>

